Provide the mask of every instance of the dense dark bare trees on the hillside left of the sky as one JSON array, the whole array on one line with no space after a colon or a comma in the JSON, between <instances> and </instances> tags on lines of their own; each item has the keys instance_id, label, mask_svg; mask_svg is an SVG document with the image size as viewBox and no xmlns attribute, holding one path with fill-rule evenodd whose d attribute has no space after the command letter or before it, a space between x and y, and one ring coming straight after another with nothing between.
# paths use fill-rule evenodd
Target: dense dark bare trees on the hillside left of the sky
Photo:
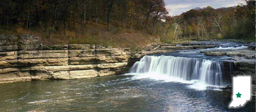
<instances>
[{"instance_id":1,"label":"dense dark bare trees on the hillside left of the sky","mask_svg":"<svg viewBox=\"0 0 256 112\"><path fill-rule=\"evenodd\" d=\"M86 30L102 24L107 31L146 29L167 14L164 0L0 0L1 29L40 28L44 31Z\"/></svg>"}]
</instances>

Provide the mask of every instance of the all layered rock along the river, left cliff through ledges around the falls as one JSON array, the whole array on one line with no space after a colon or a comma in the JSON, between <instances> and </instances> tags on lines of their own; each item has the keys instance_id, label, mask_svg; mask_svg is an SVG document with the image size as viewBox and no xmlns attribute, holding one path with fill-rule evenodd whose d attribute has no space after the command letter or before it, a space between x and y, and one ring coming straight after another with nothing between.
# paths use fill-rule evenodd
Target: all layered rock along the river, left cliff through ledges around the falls
<instances>
[{"instance_id":1,"label":"all layered rock along the river, left cliff through ledges around the falls","mask_svg":"<svg viewBox=\"0 0 256 112\"><path fill-rule=\"evenodd\" d=\"M242 50L226 50L224 47L230 46L215 41L152 43L132 52L129 48L102 44L44 45L39 37L30 35L0 35L0 40L0 83L118 75L127 73L145 55L205 49L200 52L205 56L229 56L223 60L226 80L237 75L252 75L255 91L255 43L244 44L246 49ZM216 48L218 50L212 50Z\"/></svg>"}]
</instances>

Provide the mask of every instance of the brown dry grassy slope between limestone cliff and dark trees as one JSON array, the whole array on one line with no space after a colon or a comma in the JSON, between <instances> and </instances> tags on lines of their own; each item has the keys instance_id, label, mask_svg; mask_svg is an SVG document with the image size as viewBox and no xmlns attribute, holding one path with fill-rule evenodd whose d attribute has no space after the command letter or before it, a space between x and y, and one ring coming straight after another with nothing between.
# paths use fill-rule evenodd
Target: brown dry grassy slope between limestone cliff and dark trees
<instances>
[{"instance_id":1,"label":"brown dry grassy slope between limestone cliff and dark trees","mask_svg":"<svg viewBox=\"0 0 256 112\"><path fill-rule=\"evenodd\" d=\"M111 27L108 31L105 25L87 25L84 29L49 31L34 28L27 30L21 27L12 27L9 30L0 29L0 34L30 34L39 36L43 44L103 44L120 48L141 49L143 46L153 42L152 35L136 30L122 30Z\"/></svg>"}]
</instances>

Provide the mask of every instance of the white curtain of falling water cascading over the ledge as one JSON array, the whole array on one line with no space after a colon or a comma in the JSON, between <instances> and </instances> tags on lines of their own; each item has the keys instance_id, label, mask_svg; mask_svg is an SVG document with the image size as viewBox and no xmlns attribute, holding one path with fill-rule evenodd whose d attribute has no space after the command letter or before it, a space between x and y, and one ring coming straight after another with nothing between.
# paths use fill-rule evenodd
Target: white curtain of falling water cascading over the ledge
<instances>
[{"instance_id":1,"label":"white curtain of falling water cascading over the ledge","mask_svg":"<svg viewBox=\"0 0 256 112\"><path fill-rule=\"evenodd\" d=\"M180 82L204 90L222 86L222 62L174 56L144 56L130 70L135 79Z\"/></svg>"}]
</instances>

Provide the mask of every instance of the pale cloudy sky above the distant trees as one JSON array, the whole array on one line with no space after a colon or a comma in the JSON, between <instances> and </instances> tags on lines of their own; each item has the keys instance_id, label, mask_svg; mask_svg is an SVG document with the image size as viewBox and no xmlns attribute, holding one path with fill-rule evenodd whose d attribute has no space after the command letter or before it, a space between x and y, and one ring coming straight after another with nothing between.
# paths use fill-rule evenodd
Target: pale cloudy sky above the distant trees
<instances>
[{"instance_id":1,"label":"pale cloudy sky above the distant trees","mask_svg":"<svg viewBox=\"0 0 256 112\"><path fill-rule=\"evenodd\" d=\"M203 8L211 6L215 9L232 7L244 3L244 0L165 0L165 3L169 15L173 16L182 14L196 7Z\"/></svg>"}]
</instances>

